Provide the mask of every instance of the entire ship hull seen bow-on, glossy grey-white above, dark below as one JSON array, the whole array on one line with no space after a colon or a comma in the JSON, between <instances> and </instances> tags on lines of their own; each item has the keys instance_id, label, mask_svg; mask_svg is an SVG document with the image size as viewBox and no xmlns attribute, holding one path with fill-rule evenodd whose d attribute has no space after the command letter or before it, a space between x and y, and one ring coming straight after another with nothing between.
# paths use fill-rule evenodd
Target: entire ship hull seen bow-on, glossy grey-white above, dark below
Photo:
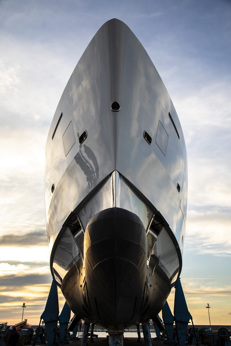
<instances>
[{"instance_id":1,"label":"entire ship hull seen bow-on, glossy grey-white above, dark below","mask_svg":"<svg viewBox=\"0 0 231 346\"><path fill-rule=\"evenodd\" d=\"M156 316L181 270L186 205L175 108L139 40L110 20L75 67L46 144L51 272L75 315L108 328Z\"/></svg>"}]
</instances>

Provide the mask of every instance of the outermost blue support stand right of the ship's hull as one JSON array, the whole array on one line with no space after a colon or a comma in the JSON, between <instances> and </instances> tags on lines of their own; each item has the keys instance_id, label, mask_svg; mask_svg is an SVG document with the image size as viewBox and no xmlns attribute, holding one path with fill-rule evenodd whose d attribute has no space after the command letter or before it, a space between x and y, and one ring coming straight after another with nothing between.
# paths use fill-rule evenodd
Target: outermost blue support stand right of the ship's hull
<instances>
[{"instance_id":1,"label":"outermost blue support stand right of the ship's hull","mask_svg":"<svg viewBox=\"0 0 231 346\"><path fill-rule=\"evenodd\" d=\"M185 339L188 331L188 322L190 319L192 319L192 316L188 311L180 278L175 284L174 317L177 330L178 345L185 346Z\"/></svg>"}]
</instances>

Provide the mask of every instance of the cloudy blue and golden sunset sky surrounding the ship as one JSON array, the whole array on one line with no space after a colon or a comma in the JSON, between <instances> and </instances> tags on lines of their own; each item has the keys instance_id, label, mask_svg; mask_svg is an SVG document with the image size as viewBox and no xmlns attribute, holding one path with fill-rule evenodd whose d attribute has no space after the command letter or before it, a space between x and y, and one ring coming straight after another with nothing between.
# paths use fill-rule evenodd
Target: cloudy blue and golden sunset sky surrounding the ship
<instances>
[{"instance_id":1,"label":"cloudy blue and golden sunset sky surrounding the ship","mask_svg":"<svg viewBox=\"0 0 231 346\"><path fill-rule=\"evenodd\" d=\"M39 323L50 289L45 143L75 65L124 21L176 108L188 156L181 283L194 324L231 325L231 1L0 0L0 321ZM174 289L169 296L173 311ZM59 290L60 312L64 298Z\"/></svg>"}]
</instances>

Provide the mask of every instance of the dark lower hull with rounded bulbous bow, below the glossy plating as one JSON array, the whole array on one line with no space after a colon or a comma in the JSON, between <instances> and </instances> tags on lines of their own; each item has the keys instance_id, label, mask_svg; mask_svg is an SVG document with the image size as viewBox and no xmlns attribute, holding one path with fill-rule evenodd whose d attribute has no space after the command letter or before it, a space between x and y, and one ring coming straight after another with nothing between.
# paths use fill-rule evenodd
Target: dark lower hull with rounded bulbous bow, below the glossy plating
<instances>
[{"instance_id":1,"label":"dark lower hull with rounded bulbous bow, below the glossy plating","mask_svg":"<svg viewBox=\"0 0 231 346\"><path fill-rule=\"evenodd\" d=\"M171 285L151 256L139 217L121 208L90 220L82 259L64 277L61 290L76 316L104 327L124 328L156 316Z\"/></svg>"}]
</instances>

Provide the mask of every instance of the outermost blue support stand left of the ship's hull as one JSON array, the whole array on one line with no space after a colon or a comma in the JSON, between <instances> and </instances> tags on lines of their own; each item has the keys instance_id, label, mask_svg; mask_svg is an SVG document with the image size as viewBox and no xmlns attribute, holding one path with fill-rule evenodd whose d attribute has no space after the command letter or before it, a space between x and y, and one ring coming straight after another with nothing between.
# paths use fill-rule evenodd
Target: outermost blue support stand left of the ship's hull
<instances>
[{"instance_id":1,"label":"outermost blue support stand left of the ship's hull","mask_svg":"<svg viewBox=\"0 0 231 346\"><path fill-rule=\"evenodd\" d=\"M41 315L46 328L46 339L48 345L55 344L56 328L59 319L59 300L57 285L52 280L51 289L47 298L45 310Z\"/></svg>"}]
</instances>

